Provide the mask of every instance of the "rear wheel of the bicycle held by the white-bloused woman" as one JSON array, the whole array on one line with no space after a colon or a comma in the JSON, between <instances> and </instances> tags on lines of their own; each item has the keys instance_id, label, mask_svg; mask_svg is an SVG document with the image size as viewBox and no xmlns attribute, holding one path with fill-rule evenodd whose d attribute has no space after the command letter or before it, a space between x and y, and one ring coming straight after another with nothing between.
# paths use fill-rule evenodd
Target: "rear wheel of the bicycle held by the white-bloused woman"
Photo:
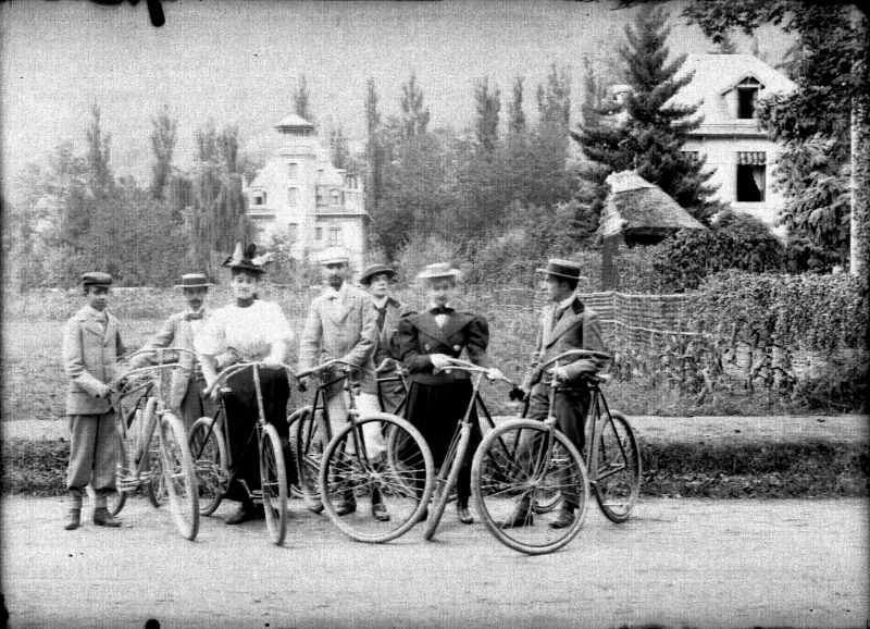
<instances>
[{"instance_id":1,"label":"rear wheel of the bicycle held by the white-bloused woman","mask_svg":"<svg viewBox=\"0 0 870 629\"><path fill-rule=\"evenodd\" d=\"M200 417L187 437L197 473L199 513L210 516L223 501L229 486L226 441L217 418Z\"/></svg>"}]
</instances>

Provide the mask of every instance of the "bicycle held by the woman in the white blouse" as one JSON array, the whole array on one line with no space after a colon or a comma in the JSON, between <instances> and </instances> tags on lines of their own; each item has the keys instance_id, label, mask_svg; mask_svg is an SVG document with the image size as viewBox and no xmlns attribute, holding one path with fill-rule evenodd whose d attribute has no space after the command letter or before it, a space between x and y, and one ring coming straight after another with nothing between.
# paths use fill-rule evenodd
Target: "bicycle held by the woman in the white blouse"
<instances>
[{"instance_id":1,"label":"bicycle held by the woman in the white blouse","mask_svg":"<svg viewBox=\"0 0 870 629\"><path fill-rule=\"evenodd\" d=\"M236 362L221 371L216 380L204 392L204 395L211 395L215 388L225 387L226 381L233 375L246 369L252 370L258 418L246 439L245 446L247 447L251 439L257 437L260 490L250 490L244 480L237 479L241 460L233 459L233 452L224 433L223 425L227 419L223 399L213 417L200 417L194 422L188 433L188 440L196 461L200 513L203 516L213 514L226 496L233 482L238 480L253 501L262 503L269 536L272 542L281 545L287 533L287 468L281 435L275 427L265 420L263 392L260 383L260 370L263 368L284 369L287 372L288 381L290 378L295 378L293 369L286 365L266 365L262 361Z\"/></svg>"}]
</instances>

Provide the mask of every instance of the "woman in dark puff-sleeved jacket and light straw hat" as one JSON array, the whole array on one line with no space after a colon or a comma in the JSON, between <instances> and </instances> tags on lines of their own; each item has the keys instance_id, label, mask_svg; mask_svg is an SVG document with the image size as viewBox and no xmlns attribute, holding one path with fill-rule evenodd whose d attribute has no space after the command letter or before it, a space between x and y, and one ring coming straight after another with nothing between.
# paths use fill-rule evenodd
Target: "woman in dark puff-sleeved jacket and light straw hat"
<instances>
[{"instance_id":1,"label":"woman in dark puff-sleeved jacket and light straw hat","mask_svg":"<svg viewBox=\"0 0 870 629\"><path fill-rule=\"evenodd\" d=\"M440 467L450 447L453 431L465 415L472 395L469 374L444 371L449 358L459 358L464 349L468 359L490 368L486 357L489 326L486 319L473 312L459 311L450 303L459 271L447 263L430 264L418 279L426 286L428 306L399 320L396 334L399 356L409 371L406 417L422 433L432 451L435 466ZM460 521L474 521L469 513L471 495L471 459L481 441L476 414L472 414L472 439L457 481L457 514Z\"/></svg>"}]
</instances>

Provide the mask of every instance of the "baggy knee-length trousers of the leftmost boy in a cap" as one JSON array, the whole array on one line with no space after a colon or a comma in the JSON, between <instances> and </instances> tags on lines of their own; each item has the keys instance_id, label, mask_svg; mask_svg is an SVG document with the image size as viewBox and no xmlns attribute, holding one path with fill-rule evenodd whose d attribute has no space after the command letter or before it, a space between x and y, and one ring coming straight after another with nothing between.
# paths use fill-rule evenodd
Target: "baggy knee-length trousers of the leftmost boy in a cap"
<instances>
[{"instance_id":1,"label":"baggy knee-length trousers of the leftmost boy in a cap","mask_svg":"<svg viewBox=\"0 0 870 629\"><path fill-rule=\"evenodd\" d=\"M82 508L84 490L94 489L94 506L105 507L107 496L115 491L117 473L117 425L114 410L101 415L71 415L70 465L66 490L70 506Z\"/></svg>"}]
</instances>

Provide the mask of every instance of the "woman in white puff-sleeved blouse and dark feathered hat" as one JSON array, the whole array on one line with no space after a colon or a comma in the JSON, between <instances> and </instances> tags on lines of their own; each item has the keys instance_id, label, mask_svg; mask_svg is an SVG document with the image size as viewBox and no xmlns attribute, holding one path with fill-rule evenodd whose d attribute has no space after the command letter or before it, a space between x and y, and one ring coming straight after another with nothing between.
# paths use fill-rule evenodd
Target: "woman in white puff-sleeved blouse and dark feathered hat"
<instances>
[{"instance_id":1,"label":"woman in white puff-sleeved blouse and dark feathered hat","mask_svg":"<svg viewBox=\"0 0 870 629\"><path fill-rule=\"evenodd\" d=\"M254 245L243 251L239 244L235 252L224 261L223 266L231 271L229 287L235 301L216 309L195 340L202 373L209 385L216 380L219 369L237 361L264 361L277 367L287 360L293 331L277 304L264 301L257 296L271 257L256 257L256 251ZM257 441L248 440L259 415L253 373L249 369L243 370L232 375L226 384L231 390L223 397L227 437L233 460L243 461L237 480L245 481L247 490L253 491L260 488ZM265 419L286 442L286 411L290 387L285 370L261 369L260 386ZM291 472L293 466L287 467L288 473ZM254 509L247 490L239 482L229 488L227 497L240 502L241 506L226 523L236 525L262 517L262 513Z\"/></svg>"}]
</instances>

